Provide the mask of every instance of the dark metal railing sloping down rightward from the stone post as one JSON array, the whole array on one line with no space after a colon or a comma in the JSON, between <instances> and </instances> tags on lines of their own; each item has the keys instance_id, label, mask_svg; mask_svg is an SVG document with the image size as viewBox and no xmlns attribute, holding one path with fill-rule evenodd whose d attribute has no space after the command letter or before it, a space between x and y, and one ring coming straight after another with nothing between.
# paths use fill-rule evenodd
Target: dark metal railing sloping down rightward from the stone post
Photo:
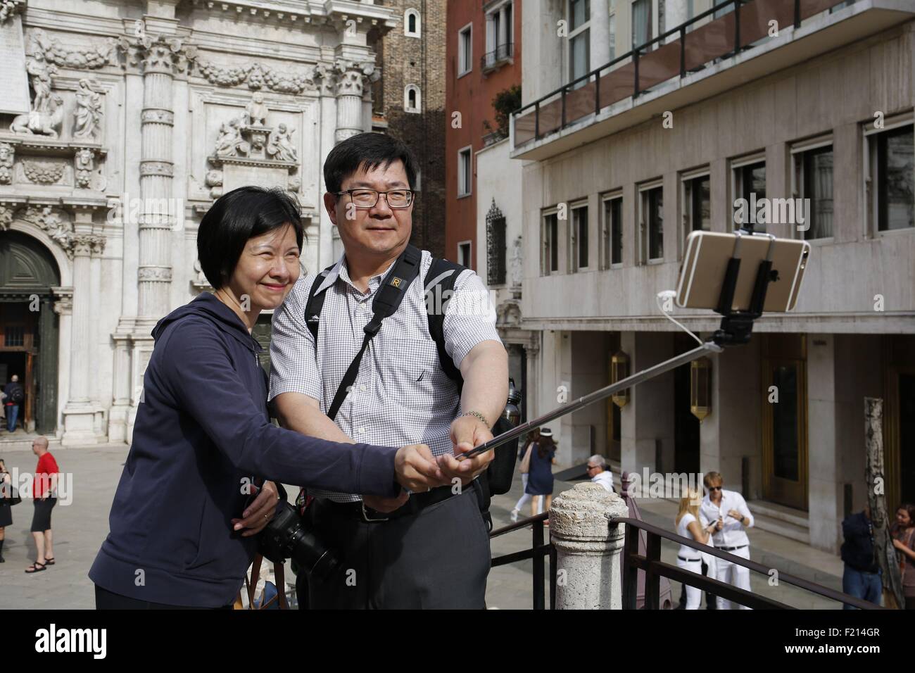
<instances>
[{"instance_id":1,"label":"dark metal railing sloping down rightward from the stone post","mask_svg":"<svg viewBox=\"0 0 915 673\"><path fill-rule=\"evenodd\" d=\"M670 563L664 563L661 560L661 540L668 539L678 545L686 545L694 548L704 554L724 559L738 566L743 566L754 572L759 572L766 576L767 581L770 578L771 570L778 572L777 578L779 584L791 584L808 592L816 593L824 598L833 601L844 602L853 605L862 610L882 610L880 606L872 602L862 601L847 593L836 592L833 589L816 584L812 581L802 580L787 572L772 569L763 566L761 563L744 559L742 557L730 554L727 551L720 551L713 547L700 544L693 539L680 537L675 533L664 530L658 526L651 526L644 521L628 517L611 518L609 525L615 526L626 524L626 542L623 549L623 610L634 610L636 606L636 592L638 591L638 573L639 570L645 572L645 609L657 610L659 605L659 594L661 592L661 578L666 577L669 580L675 580L695 587L702 592L712 592L721 598L736 602L739 605L746 605L754 610L793 610L791 605L783 602L774 601L757 593L748 592L738 589L732 584L713 580L693 572L685 570L678 566L672 566ZM639 531L643 530L648 536L645 554L639 553ZM633 551L634 550L634 551Z\"/></svg>"}]
</instances>

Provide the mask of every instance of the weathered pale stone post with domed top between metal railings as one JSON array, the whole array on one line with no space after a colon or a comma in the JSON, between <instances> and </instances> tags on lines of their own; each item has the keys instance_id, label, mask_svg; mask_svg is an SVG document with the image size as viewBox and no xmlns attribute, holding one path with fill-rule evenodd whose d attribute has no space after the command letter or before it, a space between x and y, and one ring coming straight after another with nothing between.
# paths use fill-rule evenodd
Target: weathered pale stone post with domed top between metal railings
<instances>
[{"instance_id":1,"label":"weathered pale stone post with domed top between metal railings","mask_svg":"<svg viewBox=\"0 0 915 673\"><path fill-rule=\"evenodd\" d=\"M550 539L556 548L556 610L621 610L624 525L629 516L617 494L598 483L576 483L550 507Z\"/></svg>"}]
</instances>

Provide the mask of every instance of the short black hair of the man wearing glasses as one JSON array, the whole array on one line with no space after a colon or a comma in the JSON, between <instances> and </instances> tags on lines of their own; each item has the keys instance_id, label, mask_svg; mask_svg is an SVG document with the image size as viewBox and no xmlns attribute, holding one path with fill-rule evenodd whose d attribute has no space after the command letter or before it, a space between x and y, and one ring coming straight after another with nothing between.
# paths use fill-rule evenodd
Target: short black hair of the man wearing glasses
<instances>
[{"instance_id":1,"label":"short black hair of the man wearing glasses","mask_svg":"<svg viewBox=\"0 0 915 673\"><path fill-rule=\"evenodd\" d=\"M331 194L336 194L341 189L343 180L360 168L387 168L397 159L404 163L407 182L410 189L414 189L416 159L403 142L393 136L371 131L349 137L330 150L324 162L324 184Z\"/></svg>"}]
</instances>

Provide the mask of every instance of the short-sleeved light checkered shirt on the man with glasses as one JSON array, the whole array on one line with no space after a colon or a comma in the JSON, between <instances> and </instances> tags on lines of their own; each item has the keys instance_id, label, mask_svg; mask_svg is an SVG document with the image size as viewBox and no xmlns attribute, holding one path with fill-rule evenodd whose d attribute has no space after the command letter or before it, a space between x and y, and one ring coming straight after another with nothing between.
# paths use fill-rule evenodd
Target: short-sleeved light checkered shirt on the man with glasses
<instances>
[{"instance_id":1,"label":"short-sleeved light checkered shirt on the man with glasses","mask_svg":"<svg viewBox=\"0 0 915 673\"><path fill-rule=\"evenodd\" d=\"M434 455L452 451L451 422L460 413L457 385L442 371L436 342L429 334L423 280L432 255L423 251L416 277L397 311L382 322L362 356L350 395L335 422L352 440L382 446L427 444ZM388 267L390 268L390 266ZM270 342L270 399L302 393L328 412L343 375L362 345L362 328L371 320L371 302L387 273L371 277L363 293L350 281L341 257L327 277L318 276L326 298L318 328L318 347L305 322L308 291L316 276L302 277L276 309ZM445 350L460 366L479 342L500 342L495 309L483 281L461 273L445 315ZM490 423L494 419L490 419ZM309 489L309 494L356 502L358 494Z\"/></svg>"}]
</instances>

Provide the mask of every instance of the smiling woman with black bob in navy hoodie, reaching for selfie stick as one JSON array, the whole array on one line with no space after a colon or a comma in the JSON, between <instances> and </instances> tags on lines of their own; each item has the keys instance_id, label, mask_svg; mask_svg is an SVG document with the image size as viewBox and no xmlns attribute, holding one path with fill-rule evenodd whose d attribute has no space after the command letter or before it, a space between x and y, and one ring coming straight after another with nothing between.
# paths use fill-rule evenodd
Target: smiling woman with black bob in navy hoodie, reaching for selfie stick
<instances>
[{"instance_id":1,"label":"smiling woman with black bob in navy hoodie, reaching for selfie stick","mask_svg":"<svg viewBox=\"0 0 915 673\"><path fill-rule=\"evenodd\" d=\"M111 533L89 572L98 608L230 605L278 502L273 482L386 497L450 483L425 445L342 444L271 423L251 331L296 283L303 237L280 190L230 191L203 217L198 255L215 292L152 332Z\"/></svg>"}]
</instances>

